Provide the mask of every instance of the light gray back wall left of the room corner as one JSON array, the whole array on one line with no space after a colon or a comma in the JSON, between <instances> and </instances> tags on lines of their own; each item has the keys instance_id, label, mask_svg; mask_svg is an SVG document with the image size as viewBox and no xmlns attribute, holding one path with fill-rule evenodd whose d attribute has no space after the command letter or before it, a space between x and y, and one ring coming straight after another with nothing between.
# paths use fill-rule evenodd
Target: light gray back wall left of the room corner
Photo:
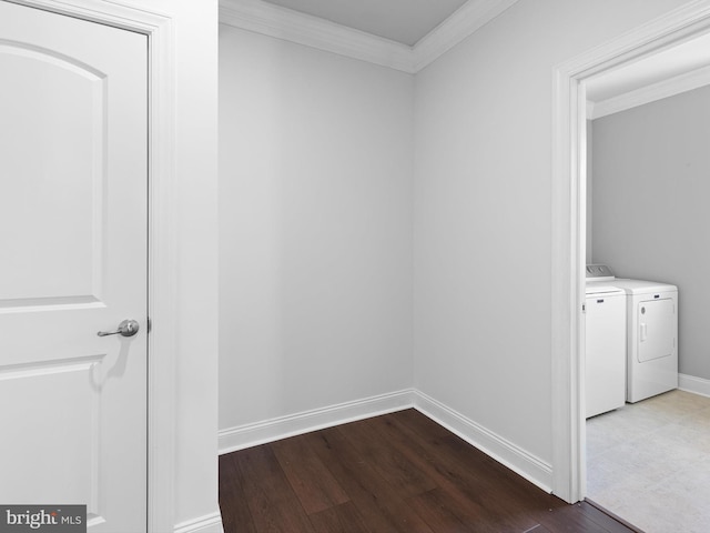
<instances>
[{"instance_id":1,"label":"light gray back wall left of the room corner","mask_svg":"<svg viewBox=\"0 0 710 533\"><path fill-rule=\"evenodd\" d=\"M408 74L220 27L220 428L412 386Z\"/></svg>"}]
</instances>

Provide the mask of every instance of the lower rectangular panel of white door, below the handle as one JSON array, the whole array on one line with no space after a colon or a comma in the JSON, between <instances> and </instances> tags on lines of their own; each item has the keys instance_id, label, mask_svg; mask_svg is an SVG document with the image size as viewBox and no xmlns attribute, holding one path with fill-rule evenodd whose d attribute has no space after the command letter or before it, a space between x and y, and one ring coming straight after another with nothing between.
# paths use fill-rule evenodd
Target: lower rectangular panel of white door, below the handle
<instances>
[{"instance_id":1,"label":"lower rectangular panel of white door, below the handle","mask_svg":"<svg viewBox=\"0 0 710 533\"><path fill-rule=\"evenodd\" d=\"M87 503L89 511L98 514L92 497L98 493L98 470L87 457L97 457L100 452L94 425L101 396L90 385L89 375L100 359L6 368L0 374L0 403L19 405L17 410L3 410L8 411L3 424L11 424L13 436L20 436L3 443L3 455L21 464L31 457L32 467L39 471L31 475L16 472L12 479L2 480L3 486L12 483L12 493L24 495L23 503ZM55 445L54 439L65 439L68 432L72 433L73 445Z\"/></svg>"}]
</instances>

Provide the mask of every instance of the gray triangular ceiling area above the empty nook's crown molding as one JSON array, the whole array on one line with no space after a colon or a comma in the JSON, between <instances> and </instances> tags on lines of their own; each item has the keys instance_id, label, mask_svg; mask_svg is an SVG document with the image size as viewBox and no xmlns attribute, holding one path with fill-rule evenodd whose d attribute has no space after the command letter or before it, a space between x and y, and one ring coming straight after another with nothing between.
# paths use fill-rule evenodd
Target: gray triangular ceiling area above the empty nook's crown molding
<instances>
[{"instance_id":1,"label":"gray triangular ceiling area above the empty nook's crown molding","mask_svg":"<svg viewBox=\"0 0 710 533\"><path fill-rule=\"evenodd\" d=\"M413 47L467 0L264 0Z\"/></svg>"}]
</instances>

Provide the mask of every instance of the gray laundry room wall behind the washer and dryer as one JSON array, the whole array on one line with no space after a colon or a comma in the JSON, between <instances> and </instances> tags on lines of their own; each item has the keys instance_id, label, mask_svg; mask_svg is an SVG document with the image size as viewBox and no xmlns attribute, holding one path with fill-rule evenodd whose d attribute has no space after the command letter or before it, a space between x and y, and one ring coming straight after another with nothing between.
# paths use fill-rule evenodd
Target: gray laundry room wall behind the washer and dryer
<instances>
[{"instance_id":1,"label":"gray laundry room wall behind the washer and dryer","mask_svg":"<svg viewBox=\"0 0 710 533\"><path fill-rule=\"evenodd\" d=\"M679 370L702 379L710 379L709 145L710 87L594 121L594 262L678 285Z\"/></svg>"}]
</instances>

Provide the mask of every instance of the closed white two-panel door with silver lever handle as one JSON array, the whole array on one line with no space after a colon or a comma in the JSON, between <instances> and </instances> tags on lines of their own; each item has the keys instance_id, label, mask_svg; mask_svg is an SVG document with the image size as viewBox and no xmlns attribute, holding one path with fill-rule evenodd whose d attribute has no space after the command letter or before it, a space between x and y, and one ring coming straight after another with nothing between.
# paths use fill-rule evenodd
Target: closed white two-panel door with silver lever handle
<instances>
[{"instance_id":1,"label":"closed white two-panel door with silver lever handle","mask_svg":"<svg viewBox=\"0 0 710 533\"><path fill-rule=\"evenodd\" d=\"M148 38L0 1L0 503L143 532Z\"/></svg>"}]
</instances>

